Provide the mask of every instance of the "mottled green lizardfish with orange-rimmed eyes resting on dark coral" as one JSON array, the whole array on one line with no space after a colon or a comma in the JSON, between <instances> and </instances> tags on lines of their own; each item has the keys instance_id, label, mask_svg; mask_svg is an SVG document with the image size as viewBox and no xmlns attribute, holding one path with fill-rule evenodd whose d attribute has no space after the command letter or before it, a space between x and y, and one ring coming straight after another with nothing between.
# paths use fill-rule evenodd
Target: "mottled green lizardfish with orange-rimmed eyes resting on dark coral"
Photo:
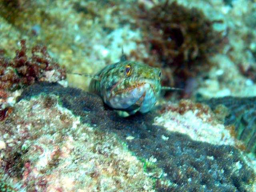
<instances>
[{"instance_id":1,"label":"mottled green lizardfish with orange-rimmed eyes resting on dark coral","mask_svg":"<svg viewBox=\"0 0 256 192\"><path fill-rule=\"evenodd\" d=\"M120 61L106 66L90 82L96 93L121 116L150 111L160 96L161 70L146 64ZM122 114L126 112L127 114Z\"/></svg>"}]
</instances>

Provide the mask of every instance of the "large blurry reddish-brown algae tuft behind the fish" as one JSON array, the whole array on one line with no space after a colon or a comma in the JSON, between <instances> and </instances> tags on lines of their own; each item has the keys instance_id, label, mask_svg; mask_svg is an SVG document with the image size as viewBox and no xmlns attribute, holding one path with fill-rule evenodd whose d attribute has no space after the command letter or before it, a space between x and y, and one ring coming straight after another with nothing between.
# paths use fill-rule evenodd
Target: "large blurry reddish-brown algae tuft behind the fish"
<instances>
[{"instance_id":1,"label":"large blurry reddish-brown algae tuft behind the fish","mask_svg":"<svg viewBox=\"0 0 256 192\"><path fill-rule=\"evenodd\" d=\"M136 24L148 52L143 61L162 68L164 86L185 88L189 78L208 72L212 65L208 59L222 50L224 37L213 29L222 21L210 21L196 8L166 0L150 9L140 4L137 13ZM133 55L141 58L138 52Z\"/></svg>"}]
</instances>

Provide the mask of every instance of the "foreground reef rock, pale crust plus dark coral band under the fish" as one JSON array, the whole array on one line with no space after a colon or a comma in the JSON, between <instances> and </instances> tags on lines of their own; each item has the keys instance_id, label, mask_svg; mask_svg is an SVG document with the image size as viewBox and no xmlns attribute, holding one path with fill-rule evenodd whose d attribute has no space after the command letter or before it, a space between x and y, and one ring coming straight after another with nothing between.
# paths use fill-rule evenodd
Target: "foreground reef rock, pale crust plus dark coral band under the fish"
<instances>
[{"instance_id":1,"label":"foreground reef rock, pale crust plus dark coral band under the fish","mask_svg":"<svg viewBox=\"0 0 256 192\"><path fill-rule=\"evenodd\" d=\"M28 191L254 190L240 150L153 125L159 112L120 118L99 96L48 82L24 89L13 110L2 161Z\"/></svg>"}]
</instances>

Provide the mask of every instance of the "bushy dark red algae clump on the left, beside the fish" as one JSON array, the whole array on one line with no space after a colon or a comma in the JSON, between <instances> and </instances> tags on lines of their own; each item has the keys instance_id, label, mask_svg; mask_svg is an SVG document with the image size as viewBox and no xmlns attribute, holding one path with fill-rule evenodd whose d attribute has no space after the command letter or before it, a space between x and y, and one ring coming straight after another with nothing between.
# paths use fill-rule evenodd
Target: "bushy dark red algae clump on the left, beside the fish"
<instances>
[{"instance_id":1,"label":"bushy dark red algae clump on the left, beside the fish","mask_svg":"<svg viewBox=\"0 0 256 192\"><path fill-rule=\"evenodd\" d=\"M33 47L32 56L28 57L26 40L21 40L20 45L13 59L0 54L0 89L16 90L35 81L56 82L66 78L65 69L52 60L45 46ZM50 71L54 73L49 77Z\"/></svg>"}]
</instances>

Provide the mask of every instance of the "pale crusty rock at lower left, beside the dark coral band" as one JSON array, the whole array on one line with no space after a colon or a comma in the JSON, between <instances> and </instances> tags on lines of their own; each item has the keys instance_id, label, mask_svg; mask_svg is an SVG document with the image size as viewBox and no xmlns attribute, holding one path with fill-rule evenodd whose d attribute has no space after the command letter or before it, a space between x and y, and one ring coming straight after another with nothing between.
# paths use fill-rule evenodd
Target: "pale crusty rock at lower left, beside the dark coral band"
<instances>
[{"instance_id":1,"label":"pale crusty rock at lower left, beside the dark coral band","mask_svg":"<svg viewBox=\"0 0 256 192\"><path fill-rule=\"evenodd\" d=\"M36 87L45 91L53 88ZM62 87L55 88L60 93ZM62 93L68 90L75 90L74 95L64 94L69 102L78 92L68 88ZM20 100L14 106L15 113L0 122L4 127L0 141L5 143L0 151L1 167L6 167L6 174L31 192L152 191L153 181L144 173L143 163L124 143L95 124L82 123L79 116L60 106L66 102L58 97L45 93ZM90 100L90 104L97 106L95 101Z\"/></svg>"}]
</instances>

